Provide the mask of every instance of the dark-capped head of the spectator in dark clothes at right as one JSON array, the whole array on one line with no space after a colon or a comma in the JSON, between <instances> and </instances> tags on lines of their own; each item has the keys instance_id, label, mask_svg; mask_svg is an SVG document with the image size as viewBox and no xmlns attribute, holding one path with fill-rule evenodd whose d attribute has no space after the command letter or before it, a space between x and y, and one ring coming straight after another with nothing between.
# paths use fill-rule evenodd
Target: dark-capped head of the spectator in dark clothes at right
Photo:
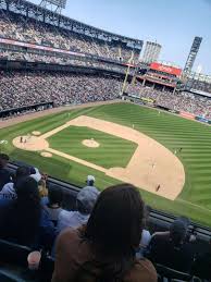
<instances>
[{"instance_id":1,"label":"dark-capped head of the spectator in dark clothes at right","mask_svg":"<svg viewBox=\"0 0 211 282\"><path fill-rule=\"evenodd\" d=\"M188 225L181 219L176 219L170 226L170 238L174 245L183 244L187 234Z\"/></svg>"}]
</instances>

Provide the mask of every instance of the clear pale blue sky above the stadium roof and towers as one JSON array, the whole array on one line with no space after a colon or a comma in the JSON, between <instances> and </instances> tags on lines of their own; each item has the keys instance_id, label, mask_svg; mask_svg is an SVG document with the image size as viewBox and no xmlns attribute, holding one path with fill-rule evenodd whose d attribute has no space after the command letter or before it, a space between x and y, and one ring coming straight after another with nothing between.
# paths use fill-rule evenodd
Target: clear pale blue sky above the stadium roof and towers
<instances>
[{"instance_id":1,"label":"clear pale blue sky above the stadium roof and towers","mask_svg":"<svg viewBox=\"0 0 211 282\"><path fill-rule=\"evenodd\" d=\"M39 3L40 0L30 0ZM184 68L195 36L202 37L194 65L211 75L211 0L67 0L63 14L120 35L153 40L160 60Z\"/></svg>"}]
</instances>

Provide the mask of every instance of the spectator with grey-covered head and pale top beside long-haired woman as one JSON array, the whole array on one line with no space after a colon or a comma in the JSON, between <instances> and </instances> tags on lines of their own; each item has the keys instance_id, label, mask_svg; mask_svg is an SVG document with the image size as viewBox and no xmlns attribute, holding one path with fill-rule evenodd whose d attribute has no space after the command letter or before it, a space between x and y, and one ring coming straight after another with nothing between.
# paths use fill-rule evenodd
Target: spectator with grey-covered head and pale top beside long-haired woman
<instances>
[{"instance_id":1,"label":"spectator with grey-covered head and pale top beside long-haired woman","mask_svg":"<svg viewBox=\"0 0 211 282\"><path fill-rule=\"evenodd\" d=\"M91 183L94 184L92 180L88 184ZM58 232L61 232L64 228L77 229L86 224L98 196L99 191L94 186L86 186L80 189L76 198L76 210L61 211L58 220Z\"/></svg>"}]
</instances>

